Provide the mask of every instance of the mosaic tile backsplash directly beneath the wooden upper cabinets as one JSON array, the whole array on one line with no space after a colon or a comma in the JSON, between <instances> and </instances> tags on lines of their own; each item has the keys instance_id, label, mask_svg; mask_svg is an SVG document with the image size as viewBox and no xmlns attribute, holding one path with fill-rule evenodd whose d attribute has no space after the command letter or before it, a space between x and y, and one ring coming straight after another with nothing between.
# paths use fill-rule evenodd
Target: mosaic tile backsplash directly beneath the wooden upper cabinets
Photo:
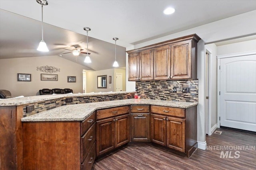
<instances>
[{"instance_id":1,"label":"mosaic tile backsplash directly beneath the wooden upper cabinets","mask_svg":"<svg viewBox=\"0 0 256 170\"><path fill-rule=\"evenodd\" d=\"M173 87L176 87L176 93ZM184 87L190 88L190 93L182 93ZM136 91L144 99L198 102L198 80L137 81Z\"/></svg>"}]
</instances>

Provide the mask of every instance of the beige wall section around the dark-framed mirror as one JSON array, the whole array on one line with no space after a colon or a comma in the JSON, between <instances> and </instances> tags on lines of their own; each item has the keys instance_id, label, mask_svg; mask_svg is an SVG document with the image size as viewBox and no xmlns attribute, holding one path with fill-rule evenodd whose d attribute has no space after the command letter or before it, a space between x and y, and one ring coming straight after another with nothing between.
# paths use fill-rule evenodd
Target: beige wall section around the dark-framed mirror
<instances>
[{"instance_id":1,"label":"beige wall section around the dark-framed mirror","mask_svg":"<svg viewBox=\"0 0 256 170\"><path fill-rule=\"evenodd\" d=\"M86 93L90 92L115 92L116 90L116 73L123 74L123 91L126 90L126 73L125 69L110 68L98 71L86 71ZM97 76L107 75L107 88L97 88ZM109 84L108 76L111 76L111 84Z\"/></svg>"}]
</instances>

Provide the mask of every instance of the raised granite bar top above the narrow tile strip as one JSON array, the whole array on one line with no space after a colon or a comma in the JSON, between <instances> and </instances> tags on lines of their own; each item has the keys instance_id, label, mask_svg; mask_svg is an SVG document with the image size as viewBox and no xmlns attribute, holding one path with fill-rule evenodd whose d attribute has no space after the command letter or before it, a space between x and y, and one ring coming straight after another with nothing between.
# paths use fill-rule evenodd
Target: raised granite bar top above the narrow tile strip
<instances>
[{"instance_id":1,"label":"raised granite bar top above the narrow tile strip","mask_svg":"<svg viewBox=\"0 0 256 170\"><path fill-rule=\"evenodd\" d=\"M46 100L53 100L58 98L79 97L79 96L97 96L97 95L114 95L126 94L133 92L99 92L99 93L76 93L76 94L48 94L40 96L28 96L20 98L8 98L0 100L0 106L19 106L23 104L30 104L35 102L43 102Z\"/></svg>"}]
</instances>

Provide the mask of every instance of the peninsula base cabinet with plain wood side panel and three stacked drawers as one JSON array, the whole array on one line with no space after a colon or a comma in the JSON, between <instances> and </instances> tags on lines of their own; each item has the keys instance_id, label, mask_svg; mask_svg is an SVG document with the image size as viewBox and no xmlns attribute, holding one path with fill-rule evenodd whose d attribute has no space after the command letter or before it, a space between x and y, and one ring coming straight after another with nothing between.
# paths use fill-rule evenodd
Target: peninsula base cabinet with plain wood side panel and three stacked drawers
<instances>
[{"instance_id":1,"label":"peninsula base cabinet with plain wood side panel and three stacked drawers","mask_svg":"<svg viewBox=\"0 0 256 170\"><path fill-rule=\"evenodd\" d=\"M95 113L84 121L24 122L24 170L89 170L96 158Z\"/></svg>"}]
</instances>

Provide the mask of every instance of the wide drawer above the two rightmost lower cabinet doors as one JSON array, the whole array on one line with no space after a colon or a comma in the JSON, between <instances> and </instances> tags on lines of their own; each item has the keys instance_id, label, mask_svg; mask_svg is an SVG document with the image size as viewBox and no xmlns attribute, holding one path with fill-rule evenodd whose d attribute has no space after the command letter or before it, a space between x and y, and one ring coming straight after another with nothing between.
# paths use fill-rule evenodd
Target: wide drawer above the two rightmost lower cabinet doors
<instances>
[{"instance_id":1,"label":"wide drawer above the two rightmost lower cabinet doors","mask_svg":"<svg viewBox=\"0 0 256 170\"><path fill-rule=\"evenodd\" d=\"M165 106L151 106L151 113L158 113L163 115L185 117L185 109L165 107Z\"/></svg>"}]
</instances>

